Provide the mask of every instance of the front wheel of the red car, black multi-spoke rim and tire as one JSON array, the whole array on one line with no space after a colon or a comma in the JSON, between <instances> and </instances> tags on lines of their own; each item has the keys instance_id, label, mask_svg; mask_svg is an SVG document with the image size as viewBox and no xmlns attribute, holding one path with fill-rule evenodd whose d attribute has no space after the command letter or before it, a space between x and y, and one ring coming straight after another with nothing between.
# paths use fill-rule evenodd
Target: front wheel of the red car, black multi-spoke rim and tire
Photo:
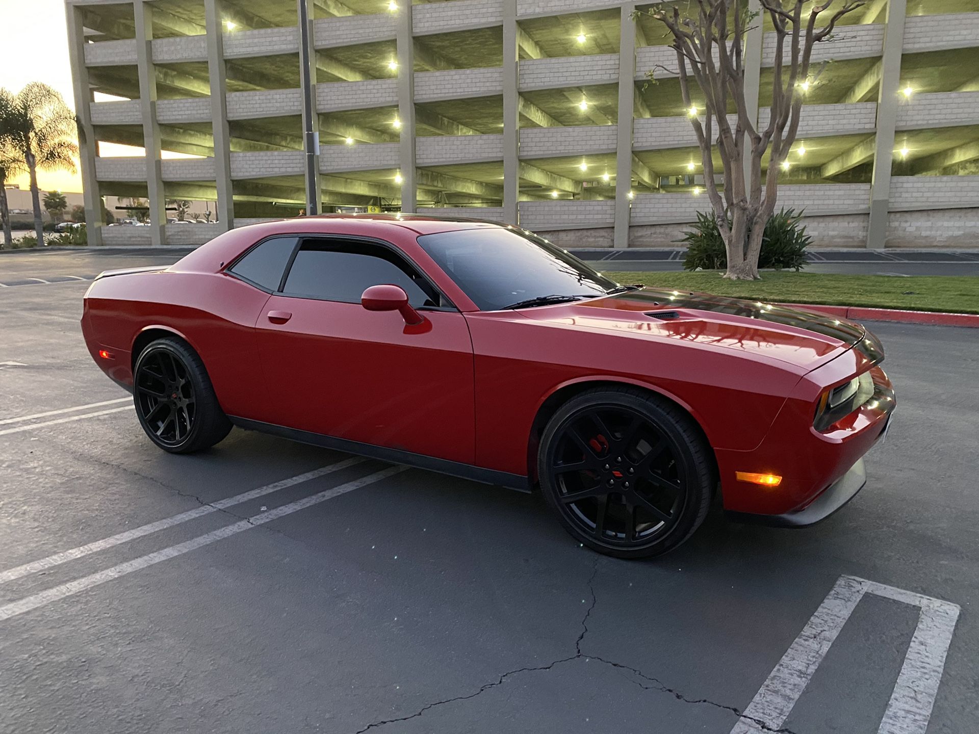
<instances>
[{"instance_id":1,"label":"front wheel of the red car, black multi-spoke rim and tire","mask_svg":"<svg viewBox=\"0 0 979 734\"><path fill-rule=\"evenodd\" d=\"M673 550L700 527L715 484L699 427L635 388L587 390L547 423L537 477L579 542L617 558Z\"/></svg>"}]
</instances>

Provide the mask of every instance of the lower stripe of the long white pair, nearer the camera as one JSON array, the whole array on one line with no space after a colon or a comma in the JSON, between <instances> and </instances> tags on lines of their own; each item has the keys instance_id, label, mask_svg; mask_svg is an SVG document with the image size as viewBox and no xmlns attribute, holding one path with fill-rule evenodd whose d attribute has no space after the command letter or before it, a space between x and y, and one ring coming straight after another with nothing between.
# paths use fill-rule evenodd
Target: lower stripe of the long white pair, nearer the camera
<instances>
[{"instance_id":1,"label":"lower stripe of the long white pair, nearer the camera","mask_svg":"<svg viewBox=\"0 0 979 734\"><path fill-rule=\"evenodd\" d=\"M354 489L359 489L367 484L372 484L374 482L380 482L389 477L393 477L400 472L403 472L408 467L390 467L384 469L380 472L375 472L374 474L362 477L358 480L353 480L352 482L347 482L345 484L340 484L332 489L327 489L325 491L319 492L318 494L313 494L309 497L304 497L296 502L290 502L287 505L282 505L281 507L276 507L274 510L264 512L261 515L255 515L248 520L242 520L238 523L233 523L232 525L225 526L224 528L218 528L207 532L204 535L199 535L196 538L187 540L183 543L178 543L176 545L171 545L168 548L163 548L163 550L156 551L154 553L147 554L145 556L140 556L139 558L133 559L132 561L126 561L125 563L113 566L111 569L106 569L105 571L100 571L97 573L92 573L87 576L82 576L81 578L76 578L73 581L54 586L53 588L46 589L37 594L32 594L31 596L25 597L19 601L11 602L0 607L0 621L4 619L11 619L12 617L17 617L23 615L25 612L37 609L38 607L43 607L51 602L58 601L59 599L64 599L74 594L90 589L93 586L98 586L99 584L105 583L106 581L111 581L119 576L124 576L128 573L133 573L140 571L154 564L158 564L161 561L167 561L171 558L176 558L184 553L189 553L192 550L197 550L205 545L210 545L218 540L226 537L230 537L239 532L245 530L256 528L259 525L268 523L272 520L277 520L278 518L284 517L286 515L291 515L294 512L299 512L307 507L312 507L320 502L325 502L328 499L333 499L341 494L346 494Z\"/></svg>"}]
</instances>

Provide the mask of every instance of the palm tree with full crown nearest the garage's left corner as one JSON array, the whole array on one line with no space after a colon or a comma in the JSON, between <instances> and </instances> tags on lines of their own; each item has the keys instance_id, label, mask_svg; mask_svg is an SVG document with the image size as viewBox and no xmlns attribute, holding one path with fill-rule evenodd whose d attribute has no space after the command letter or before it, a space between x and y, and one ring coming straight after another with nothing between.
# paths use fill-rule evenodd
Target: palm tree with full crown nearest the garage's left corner
<instances>
[{"instance_id":1,"label":"palm tree with full crown nearest the garage's left corner","mask_svg":"<svg viewBox=\"0 0 979 734\"><path fill-rule=\"evenodd\" d=\"M37 244L44 244L41 197L37 188L37 169L62 168L74 171L78 146L74 114L61 94L47 84L32 81L14 95L11 111L0 131L6 130L30 175L30 197L34 206Z\"/></svg>"}]
</instances>

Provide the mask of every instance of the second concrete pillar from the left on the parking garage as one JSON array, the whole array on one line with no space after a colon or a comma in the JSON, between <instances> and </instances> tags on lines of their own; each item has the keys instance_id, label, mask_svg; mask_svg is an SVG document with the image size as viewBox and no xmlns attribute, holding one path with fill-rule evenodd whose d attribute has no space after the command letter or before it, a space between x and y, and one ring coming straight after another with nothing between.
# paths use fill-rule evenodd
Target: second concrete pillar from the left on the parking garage
<instances>
[{"instance_id":1,"label":"second concrete pillar from the left on the parking garage","mask_svg":"<svg viewBox=\"0 0 979 734\"><path fill-rule=\"evenodd\" d=\"M136 64L139 72L139 107L143 114L146 149L146 193L150 204L150 244L166 243L166 198L160 160L160 125L157 122L157 69L153 64L153 6L135 0Z\"/></svg>"}]
</instances>

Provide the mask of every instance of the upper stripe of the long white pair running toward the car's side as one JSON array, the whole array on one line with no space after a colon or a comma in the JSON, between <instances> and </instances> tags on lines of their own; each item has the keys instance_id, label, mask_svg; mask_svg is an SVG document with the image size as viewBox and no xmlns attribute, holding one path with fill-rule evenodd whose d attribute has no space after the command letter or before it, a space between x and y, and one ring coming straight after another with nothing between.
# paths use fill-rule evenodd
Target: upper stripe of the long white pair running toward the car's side
<instances>
[{"instance_id":1,"label":"upper stripe of the long white pair running toward the car's side","mask_svg":"<svg viewBox=\"0 0 979 734\"><path fill-rule=\"evenodd\" d=\"M109 537L102 538L101 540L95 540L91 543L79 545L78 547L71 548L67 551L55 553L47 558L31 561L30 563L23 564L23 566L18 566L14 569L0 572L0 584L13 581L15 578L21 578L28 573L36 573L38 571L50 569L54 566L60 566L61 564L73 561L76 558L81 558L82 556L87 556L90 553L97 553L98 551L105 550L106 548L121 545L129 540L135 540L138 537L143 537L144 535L149 535L165 528L172 528L173 526L195 520L203 517L204 515L210 515L210 513L217 512L218 510L224 510L225 508L232 507L234 505L240 505L242 502L248 502L249 500L256 499L257 497L263 497L266 494L277 492L280 489L285 489L293 486L294 484L308 482L309 480L314 480L317 477L323 477L334 472L339 472L341 469L347 469L348 467L352 467L355 464L359 464L363 461L366 461L366 459L362 459L357 456L350 459L344 459L336 464L320 467L319 469L314 469L311 472L306 472L305 474L291 477L288 480L265 484L264 486L259 486L257 489L242 492L241 494L236 494L233 497L217 500L216 502L210 502L207 505L195 507L193 510L188 510L187 512L179 513L178 515L172 515L168 518L163 518L163 520L158 520L154 523L148 523L147 525L140 526L139 528L125 530L117 533L116 535L110 535Z\"/></svg>"}]
</instances>

